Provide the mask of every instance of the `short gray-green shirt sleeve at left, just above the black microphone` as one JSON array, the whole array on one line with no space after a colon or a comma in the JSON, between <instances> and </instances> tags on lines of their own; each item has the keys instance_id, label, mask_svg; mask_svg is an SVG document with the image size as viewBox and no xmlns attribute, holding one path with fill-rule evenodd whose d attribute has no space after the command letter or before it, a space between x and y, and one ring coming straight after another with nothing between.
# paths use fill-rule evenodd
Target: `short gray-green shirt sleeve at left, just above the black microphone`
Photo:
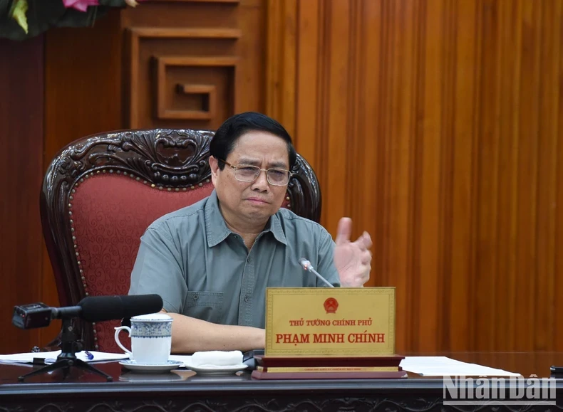
<instances>
[{"instance_id":1,"label":"short gray-green shirt sleeve at left, just above the black microphone","mask_svg":"<svg viewBox=\"0 0 563 412\"><path fill-rule=\"evenodd\" d=\"M148 228L140 241L131 273L129 295L157 294L167 312L182 313L187 282L180 250L166 229Z\"/></svg>"}]
</instances>

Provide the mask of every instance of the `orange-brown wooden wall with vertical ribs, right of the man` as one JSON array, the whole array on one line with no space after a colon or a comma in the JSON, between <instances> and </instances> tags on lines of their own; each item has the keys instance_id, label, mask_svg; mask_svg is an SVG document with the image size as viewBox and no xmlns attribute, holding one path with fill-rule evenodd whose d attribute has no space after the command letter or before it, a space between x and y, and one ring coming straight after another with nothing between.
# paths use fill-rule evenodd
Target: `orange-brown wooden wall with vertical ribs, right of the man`
<instances>
[{"instance_id":1,"label":"orange-brown wooden wall with vertical ribs, right of the man","mask_svg":"<svg viewBox=\"0 0 563 412\"><path fill-rule=\"evenodd\" d=\"M267 110L371 233L398 351L562 348L562 7L269 1Z\"/></svg>"}]
</instances>

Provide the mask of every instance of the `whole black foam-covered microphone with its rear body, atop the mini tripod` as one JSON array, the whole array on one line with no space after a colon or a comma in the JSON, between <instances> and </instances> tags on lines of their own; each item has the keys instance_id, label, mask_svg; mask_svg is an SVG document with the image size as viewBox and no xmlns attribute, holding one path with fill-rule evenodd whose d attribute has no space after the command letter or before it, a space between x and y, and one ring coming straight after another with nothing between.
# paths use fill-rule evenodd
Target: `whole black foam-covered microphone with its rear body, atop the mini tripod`
<instances>
[{"instance_id":1,"label":"whole black foam-covered microphone with its rear body, atop the mini tripod","mask_svg":"<svg viewBox=\"0 0 563 412\"><path fill-rule=\"evenodd\" d=\"M50 307L42 302L14 307L12 324L21 329L47 327L52 319L80 317L87 322L123 319L160 312L159 295L89 296L76 306Z\"/></svg>"}]
</instances>

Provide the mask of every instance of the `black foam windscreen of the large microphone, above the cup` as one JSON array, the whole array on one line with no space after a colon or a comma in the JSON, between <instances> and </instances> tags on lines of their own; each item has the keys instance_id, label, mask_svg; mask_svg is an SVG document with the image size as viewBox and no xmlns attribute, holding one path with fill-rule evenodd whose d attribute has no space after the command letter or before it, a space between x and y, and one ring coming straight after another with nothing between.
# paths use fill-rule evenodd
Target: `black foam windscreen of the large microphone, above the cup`
<instances>
[{"instance_id":1,"label":"black foam windscreen of the large microphone, above the cup","mask_svg":"<svg viewBox=\"0 0 563 412\"><path fill-rule=\"evenodd\" d=\"M162 305L160 295L88 296L78 302L82 307L81 317L88 322L148 315L160 312Z\"/></svg>"}]
</instances>

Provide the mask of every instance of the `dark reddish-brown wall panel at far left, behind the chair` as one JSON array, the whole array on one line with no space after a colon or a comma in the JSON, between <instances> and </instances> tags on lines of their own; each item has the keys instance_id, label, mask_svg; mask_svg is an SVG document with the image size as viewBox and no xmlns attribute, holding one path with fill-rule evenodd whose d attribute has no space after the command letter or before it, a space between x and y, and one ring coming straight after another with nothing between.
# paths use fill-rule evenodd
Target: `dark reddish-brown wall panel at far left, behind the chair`
<instances>
[{"instance_id":1,"label":"dark reddish-brown wall panel at far left, behind the chair","mask_svg":"<svg viewBox=\"0 0 563 412\"><path fill-rule=\"evenodd\" d=\"M29 351L36 329L11 324L15 305L41 300L44 37L0 39L0 353Z\"/></svg>"}]
</instances>

